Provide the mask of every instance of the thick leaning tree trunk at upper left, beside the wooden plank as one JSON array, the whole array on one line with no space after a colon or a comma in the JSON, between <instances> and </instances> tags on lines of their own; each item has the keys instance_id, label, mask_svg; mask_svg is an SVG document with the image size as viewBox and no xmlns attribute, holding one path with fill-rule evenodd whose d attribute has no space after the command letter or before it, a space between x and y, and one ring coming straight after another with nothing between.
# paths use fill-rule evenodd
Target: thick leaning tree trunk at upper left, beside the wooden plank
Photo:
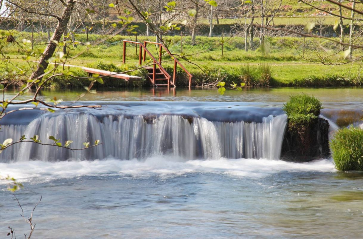
<instances>
[{"instance_id":1,"label":"thick leaning tree trunk at upper left, beside the wooden plank","mask_svg":"<svg viewBox=\"0 0 363 239\"><path fill-rule=\"evenodd\" d=\"M53 56L54 51L57 48L57 44L54 41L59 41L67 28L67 24L72 14L74 5L77 3L77 0L67 0L65 4L65 8L60 16L61 19L58 21L57 27L54 30L52 37L50 38L49 44L46 46L43 55L41 56L37 69L34 70L32 75L30 76L30 80L34 80L35 78L41 76L45 69L48 67L47 60Z\"/></svg>"}]
</instances>

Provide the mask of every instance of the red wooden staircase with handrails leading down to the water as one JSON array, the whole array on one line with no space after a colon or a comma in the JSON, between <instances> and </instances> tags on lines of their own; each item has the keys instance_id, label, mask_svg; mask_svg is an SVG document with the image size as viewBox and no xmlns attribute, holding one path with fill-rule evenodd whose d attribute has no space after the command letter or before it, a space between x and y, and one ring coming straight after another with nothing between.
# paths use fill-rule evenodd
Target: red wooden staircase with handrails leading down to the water
<instances>
[{"instance_id":1,"label":"red wooden staircase with handrails leading down to the water","mask_svg":"<svg viewBox=\"0 0 363 239\"><path fill-rule=\"evenodd\" d=\"M127 42L132 43L136 46L137 45L140 46L140 48L139 48L139 65L142 65L142 60L143 60L143 62L145 62L146 54L148 54L151 57L151 60L153 62L152 67L146 66L145 69L148 71L147 77L149 78L149 80L151 81L151 83L154 86L156 86L156 87L167 86L168 88L170 86L175 87L176 66L177 66L177 64L179 64L179 66L189 76L189 88L190 88L193 75L190 72L188 72L187 69L185 69L185 67L178 61L177 57L175 57L173 54L171 54L171 52L168 50L168 48L166 48L166 46L164 46L162 43L152 42L152 41L144 41L143 43L141 43L141 42L136 42L136 41L123 40L123 64L125 64L125 61L126 61L126 43ZM158 58L155 58L151 54L151 52L146 48L147 43L158 45L158 48L159 48ZM173 71L172 80L171 80L170 74L167 73L167 71L163 68L163 66L161 64L163 49L164 49L164 53L169 54L173 59L172 61L174 61L174 71ZM143 52L144 52L144 54L143 54Z\"/></svg>"}]
</instances>

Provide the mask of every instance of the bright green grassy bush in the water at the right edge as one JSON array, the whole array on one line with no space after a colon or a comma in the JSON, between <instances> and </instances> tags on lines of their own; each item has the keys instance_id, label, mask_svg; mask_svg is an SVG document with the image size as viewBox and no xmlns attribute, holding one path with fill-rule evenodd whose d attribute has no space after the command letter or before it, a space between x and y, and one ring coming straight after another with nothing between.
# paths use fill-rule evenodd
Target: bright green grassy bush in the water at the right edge
<instances>
[{"instance_id":1,"label":"bright green grassy bush in the water at the right edge","mask_svg":"<svg viewBox=\"0 0 363 239\"><path fill-rule=\"evenodd\" d=\"M338 170L363 171L363 129L339 129L330 142L330 149Z\"/></svg>"}]
</instances>

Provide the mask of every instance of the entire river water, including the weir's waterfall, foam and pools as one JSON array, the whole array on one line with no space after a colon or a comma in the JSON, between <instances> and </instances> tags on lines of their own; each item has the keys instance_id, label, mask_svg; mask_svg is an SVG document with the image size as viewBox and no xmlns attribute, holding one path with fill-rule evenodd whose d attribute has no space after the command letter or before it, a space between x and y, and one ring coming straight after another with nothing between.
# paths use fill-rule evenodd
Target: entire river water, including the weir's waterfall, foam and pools
<instances>
[{"instance_id":1,"label":"entire river water, including the weir's waterfall, foam and pools","mask_svg":"<svg viewBox=\"0 0 363 239\"><path fill-rule=\"evenodd\" d=\"M279 160L281 106L301 92L321 99L331 132L360 126L360 88L99 90L82 104L101 110L9 114L0 141L37 134L102 145L72 152L19 144L0 154L0 174L24 184L15 195L25 216L42 196L32 238L361 238L363 174L338 172L331 158ZM0 238L8 225L29 234L6 186Z\"/></svg>"}]
</instances>

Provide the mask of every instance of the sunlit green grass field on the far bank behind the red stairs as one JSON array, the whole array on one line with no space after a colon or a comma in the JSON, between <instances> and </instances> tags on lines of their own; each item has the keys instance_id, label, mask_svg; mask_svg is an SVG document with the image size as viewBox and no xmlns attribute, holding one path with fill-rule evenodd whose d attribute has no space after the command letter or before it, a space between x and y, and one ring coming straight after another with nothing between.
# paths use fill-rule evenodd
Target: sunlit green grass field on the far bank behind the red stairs
<instances>
[{"instance_id":1,"label":"sunlit green grass field on the far bank behind the red stairs","mask_svg":"<svg viewBox=\"0 0 363 239\"><path fill-rule=\"evenodd\" d=\"M30 38L28 33L14 34L17 39ZM90 41L95 41L102 36L89 35ZM76 40L84 42L86 36L78 35ZM76 56L81 53L80 56L74 60L70 60L68 64L78 66L92 66L95 62L101 62L102 64L114 64L118 69L132 69L138 65L138 50L135 46L127 45L126 50L126 66L122 65L122 40L130 39L125 36L110 37L102 44L91 47L86 51L85 46L78 45L77 48L73 48L69 52L69 57ZM131 40L135 40L134 38ZM155 40L147 37L138 37L138 41L143 40ZM175 54L181 54L180 37L166 37L164 39L171 52ZM196 45L192 46L188 44L191 41L190 38L185 37L183 39L183 53L187 56L188 60L180 59L185 67L195 76L194 82L196 85L200 85L204 80L205 82L214 81L220 74L224 81L241 81L240 68L244 65L259 65L268 64L271 69L270 86L344 86L344 85L362 85L362 77L360 71L362 65L360 62L347 63L339 66L322 65L311 63L304 60L302 55L302 39L294 37L274 37L269 40L269 52L262 55L260 48L255 50L244 50L244 39L241 37L234 37L233 39L225 38L224 42L224 54L222 56L221 39L217 37L197 37ZM42 37L36 35L36 42L40 44ZM256 39L258 43L258 39ZM34 45L35 49L40 49L44 45ZM314 46L319 45L319 42L315 42L314 39L306 39L305 56L309 54L315 54ZM310 48L311 49L310 49ZM331 46L332 48L334 46ZM148 49L157 56L157 49L155 46L148 46ZM21 58L22 56L17 52L17 47L12 43L9 43L3 48L5 54L7 54L12 64L18 64L24 66L25 62ZM337 56L339 58L339 56ZM34 60L36 60L34 58ZM339 59L338 59L339 60ZM163 56L163 65L170 70L172 68L172 59L168 56ZM341 61L344 61L341 59ZM150 59L147 58L145 64L150 64ZM4 71L11 70L13 66L0 63L0 74ZM201 70L201 69L203 70ZM204 71L204 72L203 72ZM207 73L208 76L205 75ZM82 74L79 72L79 74ZM84 73L83 73L84 74ZM140 72L140 74L143 74ZM64 78L58 78L59 81ZM84 83L84 82L80 82ZM144 84L144 83L142 83ZM179 85L186 84L185 78L179 76ZM124 84L118 84L124 86ZM112 85L112 86L118 86ZM53 82L52 86L79 86L75 81L67 78L65 84L59 82Z\"/></svg>"}]
</instances>

